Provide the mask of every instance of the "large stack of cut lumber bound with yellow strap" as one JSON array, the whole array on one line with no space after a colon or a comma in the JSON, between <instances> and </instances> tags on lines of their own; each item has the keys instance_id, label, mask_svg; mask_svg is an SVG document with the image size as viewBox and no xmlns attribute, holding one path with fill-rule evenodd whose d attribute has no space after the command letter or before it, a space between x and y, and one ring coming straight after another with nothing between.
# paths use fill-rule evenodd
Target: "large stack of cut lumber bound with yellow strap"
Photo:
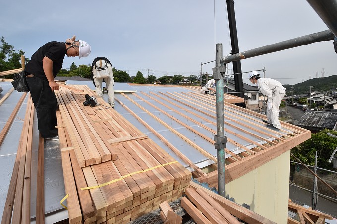
<instances>
[{"instance_id":1,"label":"large stack of cut lumber bound with yellow strap","mask_svg":"<svg viewBox=\"0 0 337 224\"><path fill-rule=\"evenodd\" d=\"M85 94L98 105L84 106ZM70 223L128 223L182 196L191 172L92 90L62 87L56 97Z\"/></svg>"}]
</instances>

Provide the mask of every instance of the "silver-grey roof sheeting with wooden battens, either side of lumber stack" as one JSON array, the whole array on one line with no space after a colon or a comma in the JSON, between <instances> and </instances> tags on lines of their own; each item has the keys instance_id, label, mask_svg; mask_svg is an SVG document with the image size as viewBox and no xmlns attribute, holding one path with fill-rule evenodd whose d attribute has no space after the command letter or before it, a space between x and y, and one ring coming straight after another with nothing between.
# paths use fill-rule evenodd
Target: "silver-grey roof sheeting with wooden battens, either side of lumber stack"
<instances>
[{"instance_id":1,"label":"silver-grey roof sheeting with wooden battens, either side of lumber stack","mask_svg":"<svg viewBox=\"0 0 337 224\"><path fill-rule=\"evenodd\" d=\"M88 85L94 89L92 82L67 81L67 84ZM10 82L1 82L0 85L3 88L0 94L0 130L2 130L23 93L13 91ZM189 162L182 159L182 156L174 152L174 149L159 136L165 138L173 148L199 168L216 163L217 150L213 139L216 134L215 96L206 95L196 87L129 86L125 83L116 83L115 88L127 90L127 92L115 92L115 110L187 169L194 170ZM107 94L104 94L106 101L107 97ZM9 132L0 145L0 176L3 177L0 181L1 216L23 127L27 98L26 96ZM266 162L272 157L275 158L282 150L289 150L310 137L310 131L283 122L281 122L282 128L279 131L266 127L262 122L262 119L265 119L264 115L231 104L242 102L240 100L241 98L227 94L224 97L224 128L225 136L228 137L225 162L229 171L232 171L229 168L235 167L235 164L247 161L246 166L241 168L247 172L253 169L253 165L249 167L247 164L256 164L256 161L261 160L263 155L262 160ZM36 115L34 116L33 139L38 139L37 119ZM36 173L37 169L37 149L38 142L33 141L32 174ZM280 152L275 153L275 151ZM64 213L65 210L60 205L64 197L60 154L59 145L56 142L45 142L45 213L54 214L55 211L61 211L54 216L56 221L67 218L67 213ZM243 173L241 172L240 175ZM235 178L233 175L231 177ZM214 181L207 177L204 179ZM32 176L31 181L31 216L34 216L36 177ZM227 181L230 179L227 178Z\"/></svg>"}]
</instances>

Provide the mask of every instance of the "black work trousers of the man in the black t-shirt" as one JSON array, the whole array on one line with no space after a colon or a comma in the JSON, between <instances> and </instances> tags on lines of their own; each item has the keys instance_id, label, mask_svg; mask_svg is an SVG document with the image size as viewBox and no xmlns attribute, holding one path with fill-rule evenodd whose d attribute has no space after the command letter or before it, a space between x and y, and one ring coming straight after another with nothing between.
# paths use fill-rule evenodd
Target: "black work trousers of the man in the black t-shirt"
<instances>
[{"instance_id":1,"label":"black work trousers of the man in the black t-shirt","mask_svg":"<svg viewBox=\"0 0 337 224\"><path fill-rule=\"evenodd\" d=\"M57 99L47 80L38 77L26 77L30 95L38 117L38 128L42 137L58 135L56 109Z\"/></svg>"}]
</instances>

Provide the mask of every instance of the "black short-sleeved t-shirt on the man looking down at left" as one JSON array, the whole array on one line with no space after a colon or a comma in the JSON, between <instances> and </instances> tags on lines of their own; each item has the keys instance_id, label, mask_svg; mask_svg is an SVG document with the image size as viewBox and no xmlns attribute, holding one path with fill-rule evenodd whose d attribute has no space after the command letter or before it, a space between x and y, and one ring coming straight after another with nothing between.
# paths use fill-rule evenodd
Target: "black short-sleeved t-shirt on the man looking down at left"
<instances>
[{"instance_id":1,"label":"black short-sleeved t-shirt on the man looking down at left","mask_svg":"<svg viewBox=\"0 0 337 224\"><path fill-rule=\"evenodd\" d=\"M66 48L64 42L48 42L32 55L32 58L25 66L25 71L28 74L33 74L34 76L47 80L45 72L43 71L42 59L48 57L53 61L53 75L55 77L62 68L65 54Z\"/></svg>"}]
</instances>

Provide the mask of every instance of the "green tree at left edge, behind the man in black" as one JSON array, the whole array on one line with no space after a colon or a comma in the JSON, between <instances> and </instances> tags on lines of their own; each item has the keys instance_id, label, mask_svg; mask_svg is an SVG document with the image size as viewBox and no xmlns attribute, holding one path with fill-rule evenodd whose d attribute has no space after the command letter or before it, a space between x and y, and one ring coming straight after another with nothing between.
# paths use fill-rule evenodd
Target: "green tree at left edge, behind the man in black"
<instances>
[{"instance_id":1,"label":"green tree at left edge, behind the man in black","mask_svg":"<svg viewBox=\"0 0 337 224\"><path fill-rule=\"evenodd\" d=\"M0 38L0 72L21 68L21 55L25 52L19 50L16 52L13 45L9 45L4 37ZM25 63L28 61L25 58ZM2 78L11 78L13 75L2 76Z\"/></svg>"}]
</instances>

